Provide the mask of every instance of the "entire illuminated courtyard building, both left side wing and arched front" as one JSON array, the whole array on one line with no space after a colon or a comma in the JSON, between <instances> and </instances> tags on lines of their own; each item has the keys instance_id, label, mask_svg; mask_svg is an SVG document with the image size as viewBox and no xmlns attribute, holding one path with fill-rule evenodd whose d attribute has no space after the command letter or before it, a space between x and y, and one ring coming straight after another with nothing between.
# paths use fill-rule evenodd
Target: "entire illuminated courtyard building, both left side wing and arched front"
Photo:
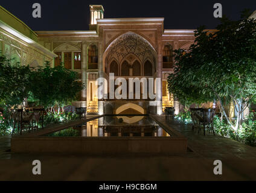
<instances>
[{"instance_id":1,"label":"entire illuminated courtyard building, both left side wing and arched front","mask_svg":"<svg viewBox=\"0 0 256 193\"><path fill-rule=\"evenodd\" d=\"M0 6L0 54L21 65L36 67L49 61L52 67L64 63L65 68L78 72L78 81L86 88L73 105L87 107L88 114L160 115L165 107L174 107L175 113L179 113L183 107L168 93L167 77L173 73L173 50L188 50L194 42L194 30L165 30L162 17L103 19L102 5L89 6L89 31L33 31ZM256 17L255 11L251 17ZM127 84L126 99L110 97L118 87L110 89L110 74L114 80L123 78L127 83L130 78L138 78L139 97L133 92L130 98L130 90L135 91L134 83L132 88ZM104 98L98 97L102 94L98 78L107 81ZM142 94L144 87L149 91L150 78L160 80L159 86L153 87L153 99ZM158 103L152 105L152 101ZM226 111L229 117L235 116L232 104ZM248 113L249 108L245 114Z\"/></svg>"}]
</instances>

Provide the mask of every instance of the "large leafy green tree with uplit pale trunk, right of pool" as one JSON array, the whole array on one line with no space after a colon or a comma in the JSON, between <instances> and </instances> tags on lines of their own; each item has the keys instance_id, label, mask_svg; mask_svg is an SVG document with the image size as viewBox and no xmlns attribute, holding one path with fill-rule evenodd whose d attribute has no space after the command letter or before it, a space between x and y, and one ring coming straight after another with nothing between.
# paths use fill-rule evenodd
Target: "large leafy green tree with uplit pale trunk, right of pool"
<instances>
[{"instance_id":1,"label":"large leafy green tree with uplit pale trunk, right of pool","mask_svg":"<svg viewBox=\"0 0 256 193\"><path fill-rule=\"evenodd\" d=\"M168 77L169 91L181 100L218 100L234 130L241 125L243 111L256 100L256 22L248 16L245 10L238 21L223 17L215 32L197 28L188 52L175 51L174 74ZM230 103L237 111L235 122L225 113Z\"/></svg>"}]
</instances>

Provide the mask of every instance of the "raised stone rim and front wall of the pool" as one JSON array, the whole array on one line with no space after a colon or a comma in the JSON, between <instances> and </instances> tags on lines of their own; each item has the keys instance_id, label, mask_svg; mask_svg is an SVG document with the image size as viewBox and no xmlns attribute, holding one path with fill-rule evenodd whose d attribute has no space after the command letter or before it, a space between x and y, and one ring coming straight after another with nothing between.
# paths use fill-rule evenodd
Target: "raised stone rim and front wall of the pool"
<instances>
[{"instance_id":1,"label":"raised stone rim and front wall of the pool","mask_svg":"<svg viewBox=\"0 0 256 193\"><path fill-rule=\"evenodd\" d=\"M150 116L152 118L152 116ZM98 118L98 117L96 117ZM155 118L152 118L154 121ZM85 120L83 120L85 121ZM82 122L83 122L82 121ZM87 121L87 120L86 120ZM159 124L159 121L156 121ZM162 127L162 123L159 124ZM165 128L165 127L164 127ZM61 130L56 128L55 131ZM52 130L51 130L52 131ZM45 133L48 133L49 130ZM173 133L173 131L171 131ZM171 137L48 137L42 132L11 138L14 153L68 154L185 154L187 138L174 131Z\"/></svg>"}]
</instances>

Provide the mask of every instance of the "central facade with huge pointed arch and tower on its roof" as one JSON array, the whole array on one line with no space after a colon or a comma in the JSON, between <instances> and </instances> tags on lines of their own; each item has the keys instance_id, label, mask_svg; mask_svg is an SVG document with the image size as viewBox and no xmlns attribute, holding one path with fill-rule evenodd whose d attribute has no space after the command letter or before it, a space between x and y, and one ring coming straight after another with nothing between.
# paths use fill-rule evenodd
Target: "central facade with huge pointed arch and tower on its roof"
<instances>
[{"instance_id":1,"label":"central facade with huge pointed arch and tower on its roof","mask_svg":"<svg viewBox=\"0 0 256 193\"><path fill-rule=\"evenodd\" d=\"M88 113L161 114L165 107L180 104L167 92L167 77L173 72L173 50L188 49L194 42L194 30L164 30L164 18L103 19L101 5L90 5L90 31L36 31L38 42L57 55L53 66L63 62L78 72L86 85L75 106L86 106ZM99 99L96 80L115 78L160 78L161 96L156 106L150 99ZM141 86L142 90L142 86ZM109 96L109 89L108 94ZM128 97L127 97L128 98Z\"/></svg>"}]
</instances>

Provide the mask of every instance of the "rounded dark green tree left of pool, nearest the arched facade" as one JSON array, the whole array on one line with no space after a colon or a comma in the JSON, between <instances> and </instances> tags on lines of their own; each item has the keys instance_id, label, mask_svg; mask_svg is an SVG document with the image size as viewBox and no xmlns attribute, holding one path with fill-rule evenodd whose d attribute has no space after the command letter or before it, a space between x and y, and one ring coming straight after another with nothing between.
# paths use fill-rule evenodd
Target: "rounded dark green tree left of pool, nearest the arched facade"
<instances>
[{"instance_id":1,"label":"rounded dark green tree left of pool, nearest the arched facade","mask_svg":"<svg viewBox=\"0 0 256 193\"><path fill-rule=\"evenodd\" d=\"M45 107L58 105L63 107L76 99L76 95L83 89L83 84L77 81L77 72L71 71L59 65L50 67L50 62L37 69L31 75L30 90L33 97Z\"/></svg>"}]
</instances>

